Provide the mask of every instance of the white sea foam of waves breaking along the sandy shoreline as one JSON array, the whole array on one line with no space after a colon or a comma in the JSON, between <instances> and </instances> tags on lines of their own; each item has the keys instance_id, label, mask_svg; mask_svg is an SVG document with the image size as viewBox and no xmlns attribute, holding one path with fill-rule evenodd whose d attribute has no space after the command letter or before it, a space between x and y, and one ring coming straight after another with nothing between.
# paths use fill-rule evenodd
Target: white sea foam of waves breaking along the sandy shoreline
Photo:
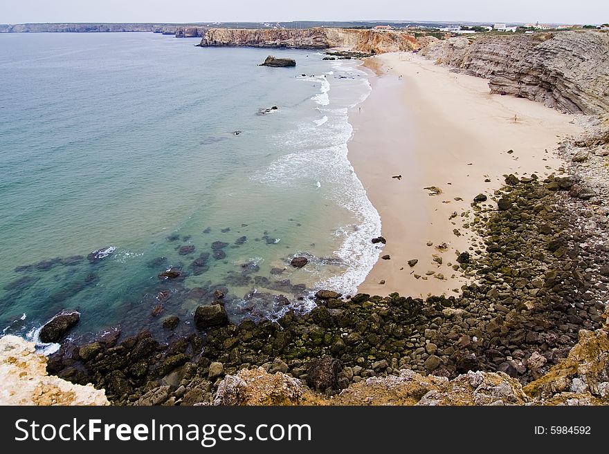
<instances>
[{"instance_id":1,"label":"white sea foam of waves breaking along the sandy shoreline","mask_svg":"<svg viewBox=\"0 0 609 454\"><path fill-rule=\"evenodd\" d=\"M331 288L348 294L356 291L379 257L379 249L370 242L370 238L381 234L381 218L368 200L366 191L347 158L347 142L353 132L348 121L348 108L363 102L372 88L365 77L367 73L358 70L354 62L337 63L333 70L335 77L345 75L349 79L332 79L336 82L331 82L349 84L343 85L345 89L340 90L345 91L345 95L340 96L340 104L344 103L343 106L337 106L337 102L328 106L327 93L331 83L327 78L321 80L319 77L309 77L310 80L322 82L321 93L311 99L320 104L316 110L327 119L323 122L324 128L318 129L316 126L320 126L319 120L313 120L316 126L302 122L296 133L289 131L275 136L276 143L282 144L287 153L271 162L262 176L253 178L278 187L302 187L303 180L317 181L318 187L323 186L322 194L325 198L352 212L356 222L340 226L334 232L335 236L342 238L331 261L338 272L331 273L316 283L317 288ZM324 185L324 182L331 184ZM328 265L329 263L320 262L320 266ZM302 309L310 309L312 303L305 300L301 304Z\"/></svg>"}]
</instances>

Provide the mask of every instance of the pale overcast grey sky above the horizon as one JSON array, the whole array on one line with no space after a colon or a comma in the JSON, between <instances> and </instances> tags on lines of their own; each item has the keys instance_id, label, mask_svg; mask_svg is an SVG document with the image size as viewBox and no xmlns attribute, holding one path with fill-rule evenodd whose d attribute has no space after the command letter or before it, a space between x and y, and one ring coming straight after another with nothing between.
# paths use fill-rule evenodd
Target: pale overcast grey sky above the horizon
<instances>
[{"instance_id":1,"label":"pale overcast grey sky above the horizon","mask_svg":"<svg viewBox=\"0 0 609 454\"><path fill-rule=\"evenodd\" d=\"M0 23L437 20L609 22L608 0L0 0Z\"/></svg>"}]
</instances>

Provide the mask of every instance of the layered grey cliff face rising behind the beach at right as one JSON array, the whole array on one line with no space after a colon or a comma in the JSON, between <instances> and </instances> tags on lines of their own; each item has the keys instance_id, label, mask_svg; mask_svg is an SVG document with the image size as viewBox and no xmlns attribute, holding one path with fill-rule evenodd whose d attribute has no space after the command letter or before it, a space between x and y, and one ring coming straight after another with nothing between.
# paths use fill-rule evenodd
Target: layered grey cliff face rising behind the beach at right
<instances>
[{"instance_id":1,"label":"layered grey cliff face rising behind the beach at right","mask_svg":"<svg viewBox=\"0 0 609 454\"><path fill-rule=\"evenodd\" d=\"M609 33L457 37L430 43L421 54L489 79L491 93L569 113L609 112Z\"/></svg>"}]
</instances>

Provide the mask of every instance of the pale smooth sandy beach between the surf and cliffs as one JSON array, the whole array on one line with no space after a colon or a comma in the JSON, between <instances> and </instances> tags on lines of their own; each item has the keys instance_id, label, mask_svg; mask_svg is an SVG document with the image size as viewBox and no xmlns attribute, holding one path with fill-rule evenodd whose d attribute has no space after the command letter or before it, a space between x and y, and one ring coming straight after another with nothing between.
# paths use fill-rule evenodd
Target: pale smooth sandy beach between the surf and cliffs
<instances>
[{"instance_id":1,"label":"pale smooth sandy beach between the surf and cliffs","mask_svg":"<svg viewBox=\"0 0 609 454\"><path fill-rule=\"evenodd\" d=\"M412 53L380 55L366 66L377 75L370 97L349 115L349 160L379 211L387 240L381 256L390 260L379 258L358 290L456 295L468 279L452 267L457 254L475 257L479 249L463 226L473 218L473 198L484 193L493 203L509 173L560 173L557 142L580 127L573 115L491 95L486 79Z\"/></svg>"}]
</instances>

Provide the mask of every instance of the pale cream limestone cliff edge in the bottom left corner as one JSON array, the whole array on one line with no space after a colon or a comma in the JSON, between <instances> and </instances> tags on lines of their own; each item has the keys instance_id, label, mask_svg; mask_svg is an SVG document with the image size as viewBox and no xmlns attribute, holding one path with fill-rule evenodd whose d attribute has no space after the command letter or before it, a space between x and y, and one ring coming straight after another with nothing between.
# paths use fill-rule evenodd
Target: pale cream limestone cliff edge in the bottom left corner
<instances>
[{"instance_id":1,"label":"pale cream limestone cliff edge in the bottom left corner","mask_svg":"<svg viewBox=\"0 0 609 454\"><path fill-rule=\"evenodd\" d=\"M46 373L46 357L20 337L0 339L0 405L109 405L104 390Z\"/></svg>"}]
</instances>

